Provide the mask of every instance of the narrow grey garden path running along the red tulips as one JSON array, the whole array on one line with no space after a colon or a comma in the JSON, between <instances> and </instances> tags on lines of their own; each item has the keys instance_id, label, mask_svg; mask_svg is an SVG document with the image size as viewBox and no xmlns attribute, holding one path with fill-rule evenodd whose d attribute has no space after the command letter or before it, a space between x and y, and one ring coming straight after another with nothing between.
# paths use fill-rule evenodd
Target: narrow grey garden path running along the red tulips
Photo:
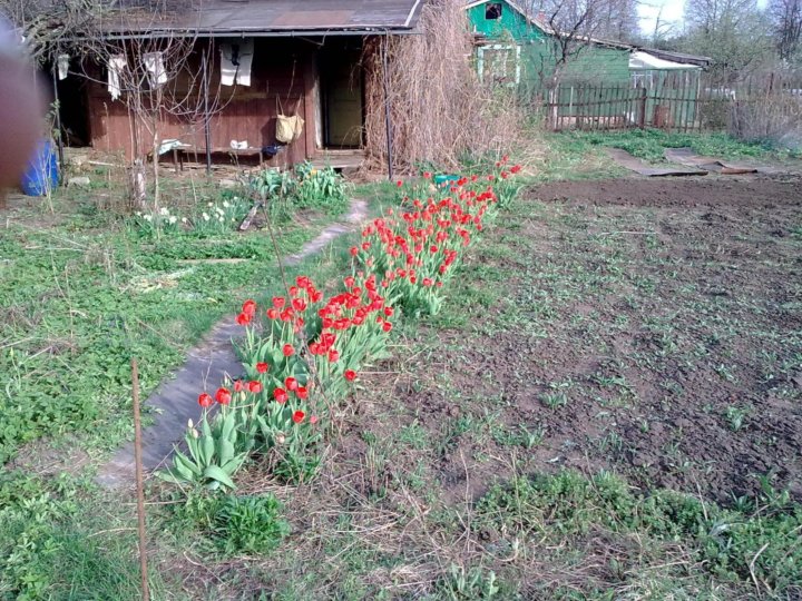
<instances>
[{"instance_id":1,"label":"narrow grey garden path running along the red tulips","mask_svg":"<svg viewBox=\"0 0 802 601\"><path fill-rule=\"evenodd\" d=\"M345 223L332 224L301 250L284 259L285 266L297 265L319 253L332 240L354 229L368 215L368 204L361 199L351 201ZM197 394L202 388L216 388L226 375L242 370L232 338L242 328L231 316L218 322L209 334L188 354L184 365L170 380L163 382L145 405L156 410L153 425L143 428L143 464L155 470L169 460L175 445L182 440L189 420L197 420ZM97 482L105 486L119 486L134 482L134 443L128 442L102 465Z\"/></svg>"}]
</instances>

